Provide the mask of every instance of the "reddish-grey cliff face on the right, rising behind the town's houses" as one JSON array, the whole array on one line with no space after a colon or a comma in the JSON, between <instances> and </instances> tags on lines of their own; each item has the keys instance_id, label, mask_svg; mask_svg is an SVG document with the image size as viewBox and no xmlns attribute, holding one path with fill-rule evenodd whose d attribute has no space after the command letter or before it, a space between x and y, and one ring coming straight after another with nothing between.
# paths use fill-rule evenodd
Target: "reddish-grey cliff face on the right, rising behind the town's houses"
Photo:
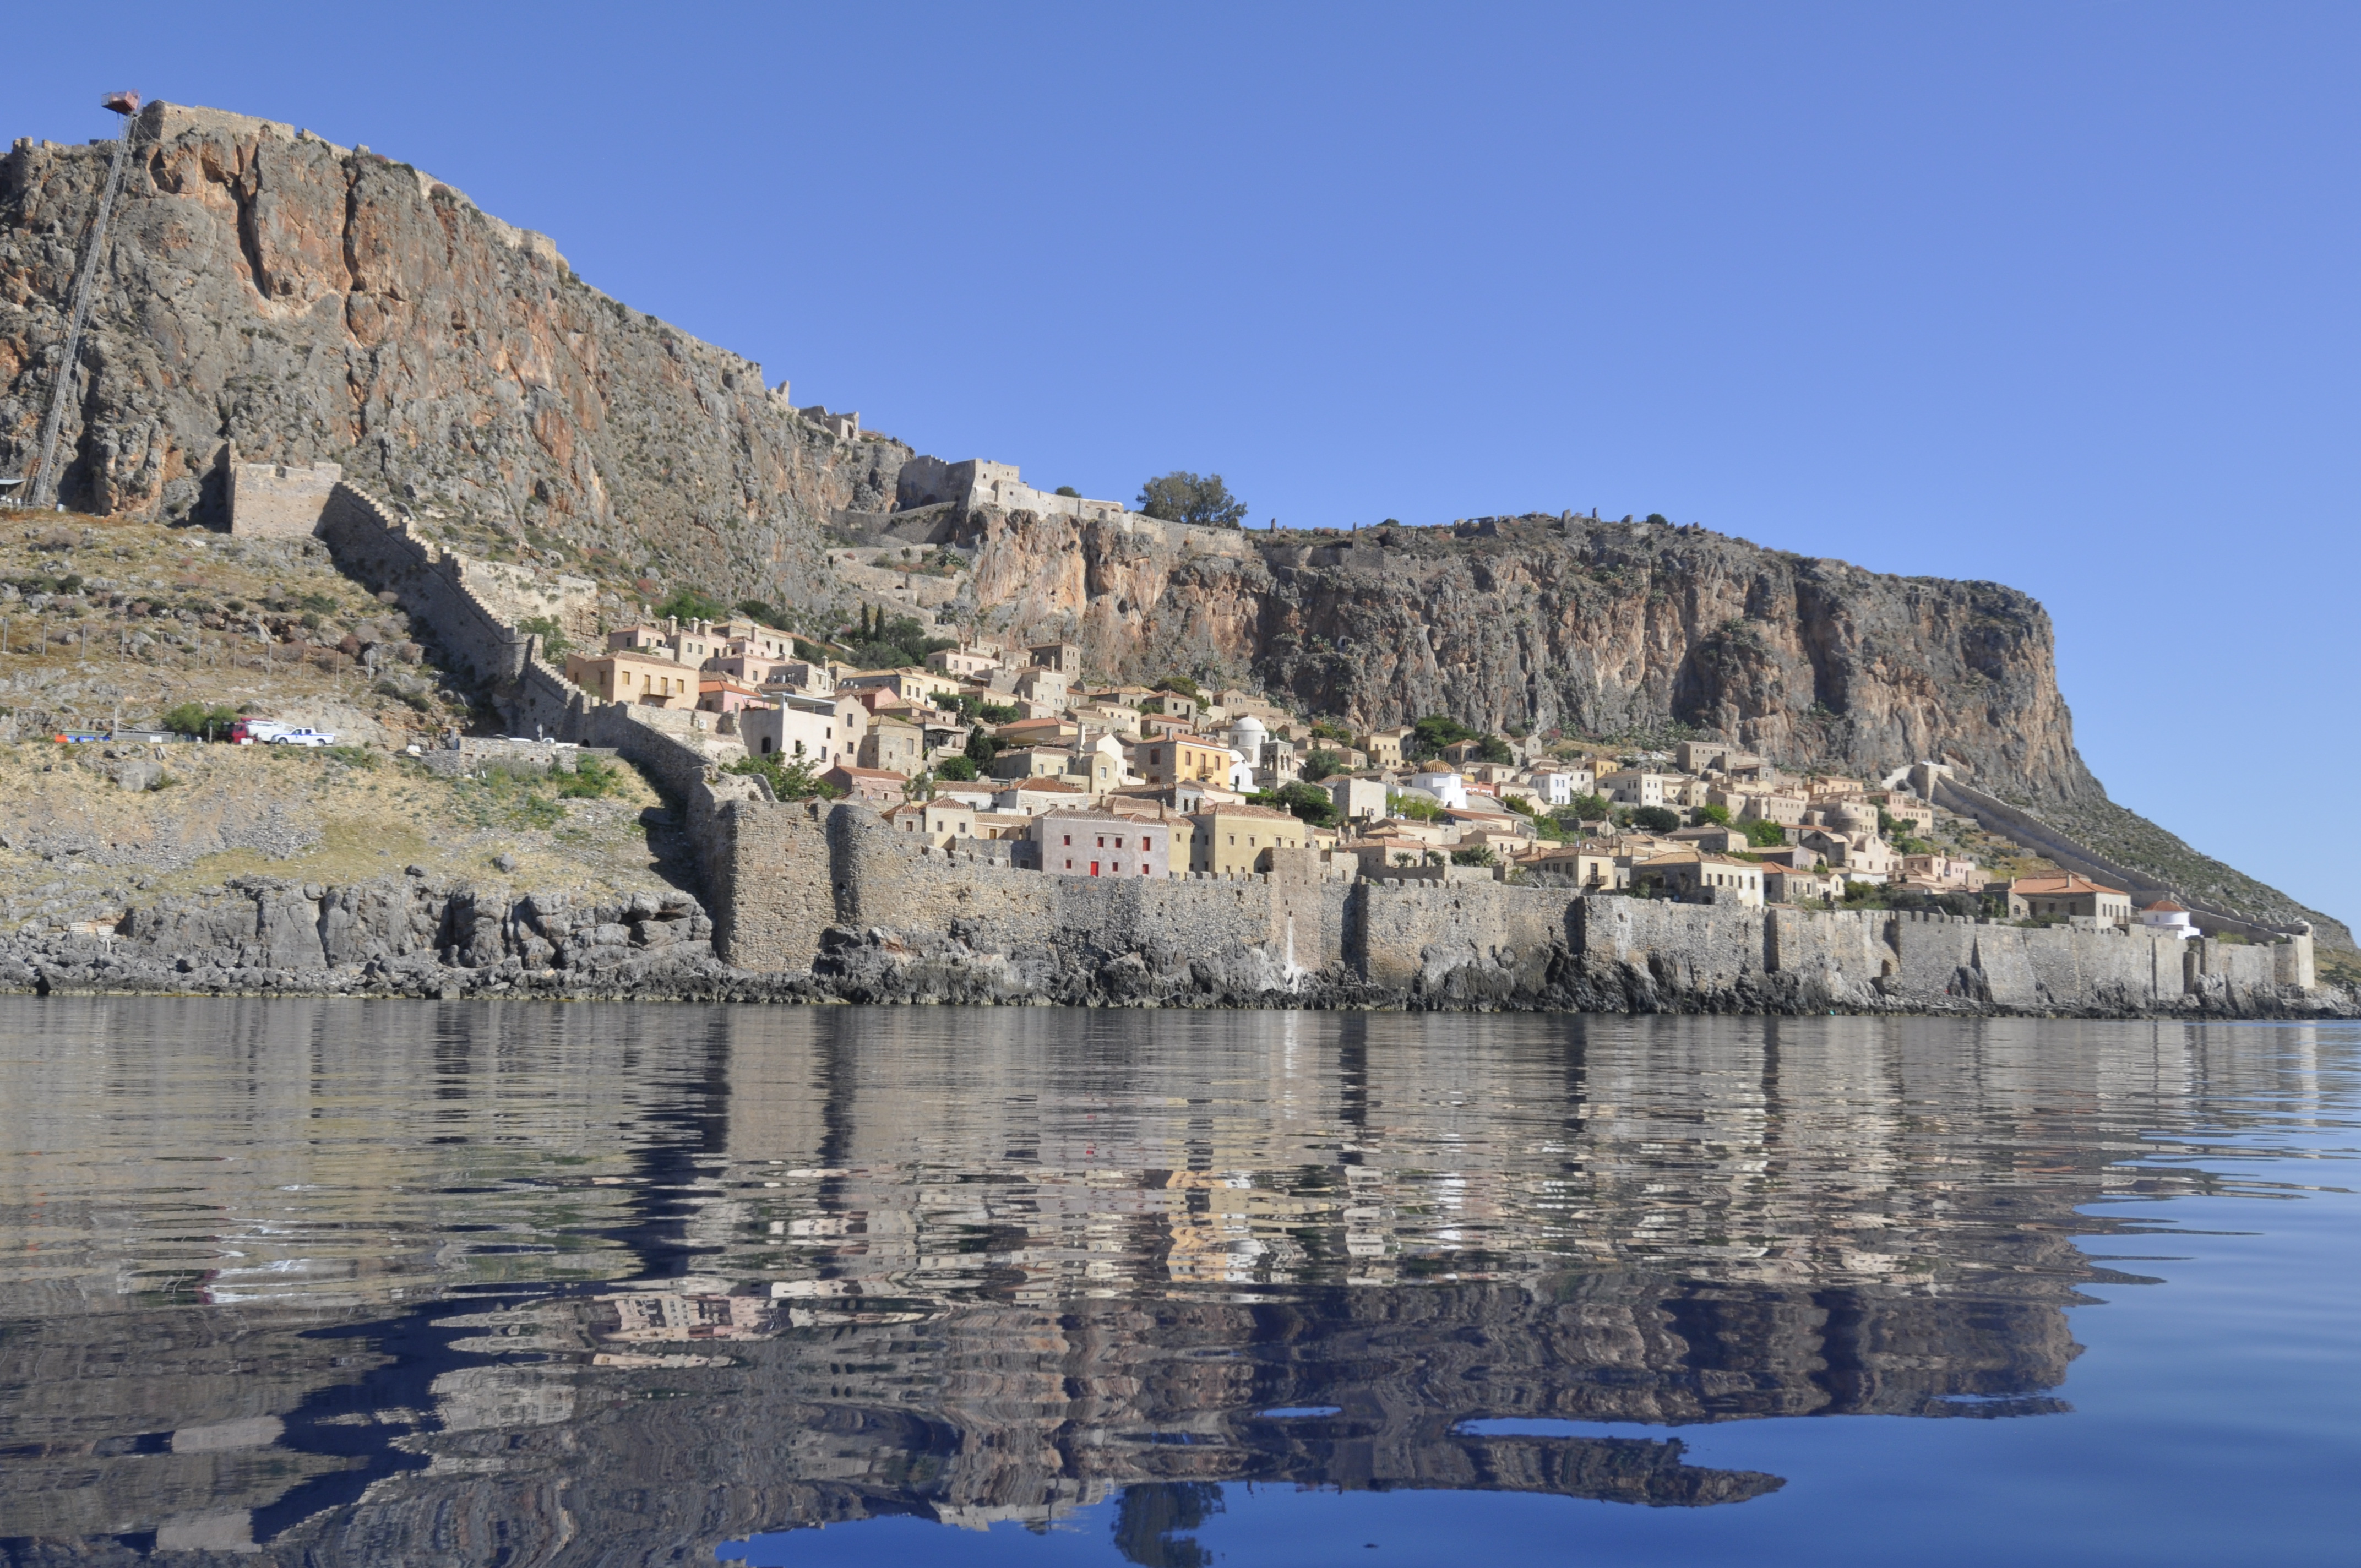
<instances>
[{"instance_id":1,"label":"reddish-grey cliff face on the right, rising behind the town's houses","mask_svg":"<svg viewBox=\"0 0 2361 1568\"><path fill-rule=\"evenodd\" d=\"M1190 538L1169 538L1188 534ZM1131 673L1228 661L1310 711L1584 734L1714 730L1856 772L1950 756L2064 801L2049 616L1997 583L1896 579L1698 527L1582 517L1358 534L1145 531L987 515L975 595L1070 616Z\"/></svg>"}]
</instances>

